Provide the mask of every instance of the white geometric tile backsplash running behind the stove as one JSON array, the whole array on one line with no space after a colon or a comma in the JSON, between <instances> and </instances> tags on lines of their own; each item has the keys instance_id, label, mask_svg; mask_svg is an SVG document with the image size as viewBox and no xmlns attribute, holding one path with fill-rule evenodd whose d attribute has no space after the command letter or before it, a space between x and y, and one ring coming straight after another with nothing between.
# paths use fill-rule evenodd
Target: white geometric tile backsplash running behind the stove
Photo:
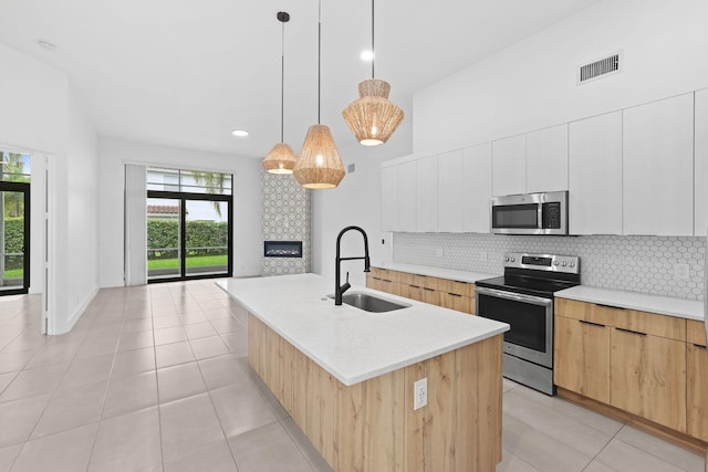
<instances>
[{"instance_id":1,"label":"white geometric tile backsplash running behind the stove","mask_svg":"<svg viewBox=\"0 0 708 472\"><path fill-rule=\"evenodd\" d=\"M579 255L584 285L702 300L705 251L699 237L394 233L393 259L501 274L506 252ZM680 274L686 265L688 279Z\"/></svg>"}]
</instances>

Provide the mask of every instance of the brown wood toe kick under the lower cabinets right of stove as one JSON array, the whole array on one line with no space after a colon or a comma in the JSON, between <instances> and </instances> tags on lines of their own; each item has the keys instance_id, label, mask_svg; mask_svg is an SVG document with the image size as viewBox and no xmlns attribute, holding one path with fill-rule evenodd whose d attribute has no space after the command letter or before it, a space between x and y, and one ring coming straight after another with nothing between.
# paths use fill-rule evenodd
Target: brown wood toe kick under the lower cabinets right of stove
<instances>
[{"instance_id":1,"label":"brown wood toe kick under the lower cabinets right of stove","mask_svg":"<svg viewBox=\"0 0 708 472\"><path fill-rule=\"evenodd\" d=\"M628 413L615 407L611 407L610 405L575 394L574 391L565 390L561 387L558 387L558 396L617 421L631 424L636 429L659 437L684 449L688 449L689 451L706 454L708 443L698 438L694 438L693 436L657 424L636 415Z\"/></svg>"}]
</instances>

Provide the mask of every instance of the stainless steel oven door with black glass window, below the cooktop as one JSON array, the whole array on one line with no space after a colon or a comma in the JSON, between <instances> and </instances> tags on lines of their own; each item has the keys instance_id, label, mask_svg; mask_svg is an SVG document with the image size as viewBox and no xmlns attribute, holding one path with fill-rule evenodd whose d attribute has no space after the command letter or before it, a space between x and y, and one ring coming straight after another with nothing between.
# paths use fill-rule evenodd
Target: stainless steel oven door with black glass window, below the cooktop
<instances>
[{"instance_id":1,"label":"stainless steel oven door with black glass window, below the cooktop","mask_svg":"<svg viewBox=\"0 0 708 472\"><path fill-rule=\"evenodd\" d=\"M504 352L553 367L553 300L477 287L477 315L508 323Z\"/></svg>"}]
</instances>

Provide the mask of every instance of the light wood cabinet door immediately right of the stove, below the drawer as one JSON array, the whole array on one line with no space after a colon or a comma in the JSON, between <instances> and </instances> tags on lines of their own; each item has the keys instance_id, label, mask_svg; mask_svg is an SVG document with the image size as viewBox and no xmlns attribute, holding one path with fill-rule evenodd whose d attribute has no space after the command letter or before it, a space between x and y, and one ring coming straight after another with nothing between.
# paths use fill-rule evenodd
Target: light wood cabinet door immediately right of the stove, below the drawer
<instances>
[{"instance_id":1,"label":"light wood cabinet door immediately right of the stove, below the drawer","mask_svg":"<svg viewBox=\"0 0 708 472\"><path fill-rule=\"evenodd\" d=\"M555 385L610 403L610 333L582 319L555 317Z\"/></svg>"}]
</instances>

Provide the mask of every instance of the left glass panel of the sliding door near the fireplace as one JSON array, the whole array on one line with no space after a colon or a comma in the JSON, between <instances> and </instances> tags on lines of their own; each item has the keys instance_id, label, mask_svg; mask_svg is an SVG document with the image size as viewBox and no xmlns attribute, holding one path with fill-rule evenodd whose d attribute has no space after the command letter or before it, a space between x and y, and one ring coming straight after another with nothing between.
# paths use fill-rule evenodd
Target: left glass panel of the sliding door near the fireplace
<instances>
[{"instance_id":1,"label":"left glass panel of the sliding door near the fireplace","mask_svg":"<svg viewBox=\"0 0 708 472\"><path fill-rule=\"evenodd\" d=\"M174 279L181 270L181 200L147 199L147 279Z\"/></svg>"}]
</instances>

